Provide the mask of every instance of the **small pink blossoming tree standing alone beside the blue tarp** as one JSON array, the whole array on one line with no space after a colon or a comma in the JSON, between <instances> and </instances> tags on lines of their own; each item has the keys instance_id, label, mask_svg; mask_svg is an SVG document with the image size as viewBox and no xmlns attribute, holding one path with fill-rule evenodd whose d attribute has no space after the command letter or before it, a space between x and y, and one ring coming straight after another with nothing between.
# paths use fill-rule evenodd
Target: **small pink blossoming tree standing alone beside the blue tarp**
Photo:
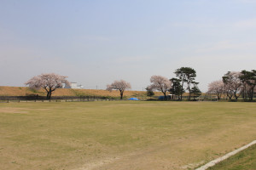
<instances>
[{"instance_id":1,"label":"small pink blossoming tree standing alone beside the blue tarp","mask_svg":"<svg viewBox=\"0 0 256 170\"><path fill-rule=\"evenodd\" d=\"M114 90L119 90L120 92L120 99L123 99L123 95L125 92L125 89L131 88L131 84L129 82L125 82L124 80L120 81L114 81L112 84L107 85L107 90L112 91Z\"/></svg>"}]
</instances>

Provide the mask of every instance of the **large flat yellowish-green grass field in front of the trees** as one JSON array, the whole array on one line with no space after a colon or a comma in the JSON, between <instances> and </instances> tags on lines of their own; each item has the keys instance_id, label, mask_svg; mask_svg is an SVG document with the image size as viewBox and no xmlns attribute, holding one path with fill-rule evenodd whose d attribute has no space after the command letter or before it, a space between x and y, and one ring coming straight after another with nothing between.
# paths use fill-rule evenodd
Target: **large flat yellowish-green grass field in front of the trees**
<instances>
[{"instance_id":1,"label":"large flat yellowish-green grass field in front of the trees","mask_svg":"<svg viewBox=\"0 0 256 170\"><path fill-rule=\"evenodd\" d=\"M0 104L0 169L194 169L256 139L255 103Z\"/></svg>"}]
</instances>

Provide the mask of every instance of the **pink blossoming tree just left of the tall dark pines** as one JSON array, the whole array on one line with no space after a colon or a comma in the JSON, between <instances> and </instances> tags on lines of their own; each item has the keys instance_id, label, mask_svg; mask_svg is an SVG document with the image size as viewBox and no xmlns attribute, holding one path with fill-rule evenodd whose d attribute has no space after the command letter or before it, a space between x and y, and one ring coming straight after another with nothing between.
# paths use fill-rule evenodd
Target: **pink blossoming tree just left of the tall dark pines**
<instances>
[{"instance_id":1,"label":"pink blossoming tree just left of the tall dark pines","mask_svg":"<svg viewBox=\"0 0 256 170\"><path fill-rule=\"evenodd\" d=\"M148 88L151 90L158 90L162 92L165 95L166 99L166 92L168 92L168 90L172 88L172 82L166 77L155 75L150 78L150 82L151 85L149 85Z\"/></svg>"}]
</instances>

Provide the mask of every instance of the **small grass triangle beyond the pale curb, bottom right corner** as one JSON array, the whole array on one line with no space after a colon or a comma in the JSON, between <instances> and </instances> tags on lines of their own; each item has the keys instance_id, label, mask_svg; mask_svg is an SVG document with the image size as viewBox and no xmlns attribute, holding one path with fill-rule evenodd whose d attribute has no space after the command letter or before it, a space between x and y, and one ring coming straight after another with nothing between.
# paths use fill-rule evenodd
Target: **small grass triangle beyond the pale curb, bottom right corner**
<instances>
[{"instance_id":1,"label":"small grass triangle beyond the pale curb, bottom right corner","mask_svg":"<svg viewBox=\"0 0 256 170\"><path fill-rule=\"evenodd\" d=\"M225 161L219 162L216 166L210 167L209 170L254 170L256 169L256 145L242 150L235 156L231 156Z\"/></svg>"}]
</instances>

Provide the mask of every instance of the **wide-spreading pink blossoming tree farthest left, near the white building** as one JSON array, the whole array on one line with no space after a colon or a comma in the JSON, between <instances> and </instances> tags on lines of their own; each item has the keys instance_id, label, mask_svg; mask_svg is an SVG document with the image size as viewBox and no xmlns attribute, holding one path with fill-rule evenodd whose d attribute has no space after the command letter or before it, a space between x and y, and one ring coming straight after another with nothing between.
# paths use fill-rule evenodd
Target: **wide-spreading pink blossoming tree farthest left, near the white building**
<instances>
[{"instance_id":1,"label":"wide-spreading pink blossoming tree farthest left, near the white building","mask_svg":"<svg viewBox=\"0 0 256 170\"><path fill-rule=\"evenodd\" d=\"M46 99L50 99L52 92L54 92L56 88L61 88L63 83L69 85L66 78L67 77L55 73L46 73L32 77L29 81L25 82L25 84L33 89L44 88L47 92Z\"/></svg>"}]
</instances>

